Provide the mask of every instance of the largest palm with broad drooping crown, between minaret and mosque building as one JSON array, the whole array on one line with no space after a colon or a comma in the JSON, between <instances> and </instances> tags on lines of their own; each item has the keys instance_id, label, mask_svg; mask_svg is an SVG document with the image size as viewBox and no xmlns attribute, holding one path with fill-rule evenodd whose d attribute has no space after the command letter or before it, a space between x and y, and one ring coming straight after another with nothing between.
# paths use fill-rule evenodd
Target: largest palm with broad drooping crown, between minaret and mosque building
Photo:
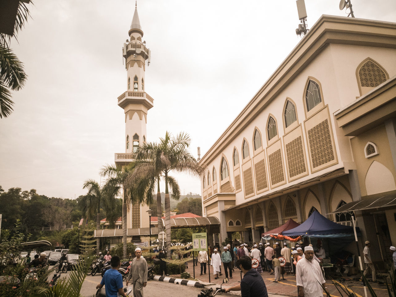
<instances>
[{"instance_id":1,"label":"largest palm with broad drooping crown, between minaret and mosque building","mask_svg":"<svg viewBox=\"0 0 396 297\"><path fill-rule=\"evenodd\" d=\"M149 184L151 187L145 187L146 195L152 196L155 185L157 185L159 192L160 180L165 181L165 229L166 237L168 238L166 243L168 251L171 244L169 189L172 192L173 199L179 200L180 198L179 184L169 173L171 171L179 171L199 175L202 171L195 158L188 151L190 142L191 139L187 133L181 132L176 137L173 137L171 133L166 131L165 137L160 138L159 143L144 144L134 154L136 170L133 176L137 176L135 177L137 180L139 180L139 176L151 177L151 183ZM161 206L160 203L158 204L158 201L160 201L158 192L157 211L158 205ZM158 217L158 226L160 226L160 217ZM168 253L168 257L170 258L170 253Z\"/></svg>"}]
</instances>

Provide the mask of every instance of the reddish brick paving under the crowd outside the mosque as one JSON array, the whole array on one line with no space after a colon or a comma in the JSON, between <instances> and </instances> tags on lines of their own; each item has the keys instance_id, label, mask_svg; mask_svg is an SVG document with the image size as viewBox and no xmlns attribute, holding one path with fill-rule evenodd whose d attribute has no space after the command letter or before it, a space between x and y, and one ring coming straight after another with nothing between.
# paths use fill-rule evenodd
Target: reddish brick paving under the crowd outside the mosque
<instances>
[{"instance_id":1,"label":"reddish brick paving under the crowd outside the mosque","mask_svg":"<svg viewBox=\"0 0 396 297\"><path fill-rule=\"evenodd\" d=\"M225 273L224 269L222 267L221 271L223 273L222 276L219 276L217 280L214 279L213 275L213 270L212 267L210 267L210 282L209 282L209 270L208 266L206 267L206 274L200 275L201 273L201 268L200 265L193 267L192 261L188 261L188 268L186 271L191 274L191 279L193 278L193 268L195 268L195 279L198 280L201 284L204 284L205 286L213 286L215 287L220 287L220 285L223 282L223 278L225 278ZM281 280L277 283L274 283L274 276L270 275L269 272L263 272L261 273L261 276L263 277L263 280L265 282L265 285L267 286L267 291L268 295L277 295L279 296L292 296L296 297L297 296L297 287L296 287L296 280L295 276L291 274L284 274L284 280L282 279L281 275ZM352 278L356 277L357 275L352 276ZM180 278L180 274L177 275L170 275L172 278ZM243 274L242 274L243 277ZM355 292L357 297L365 297L364 293L364 287L362 286L362 282L355 281L352 278L337 278L335 281L336 283L333 284L331 280L326 280L327 288L332 297L341 297L341 294L339 293L338 289L343 292L343 295L346 296L346 293L343 291L349 291L352 293L352 291ZM230 278L230 282L228 284L224 284L223 287L231 287L239 284L238 281L241 280L241 274L240 270L237 268L234 268L234 272L232 273L232 279ZM381 279L378 279L381 281ZM386 289L385 284L376 284L376 283L370 283L370 285L373 287L375 293L377 294L378 297L388 297L388 291ZM337 286L337 287L336 287ZM338 289L337 289L338 288ZM235 295L240 295L240 292L237 291L232 291L233 294ZM367 289L367 296L371 297L369 290Z\"/></svg>"}]
</instances>

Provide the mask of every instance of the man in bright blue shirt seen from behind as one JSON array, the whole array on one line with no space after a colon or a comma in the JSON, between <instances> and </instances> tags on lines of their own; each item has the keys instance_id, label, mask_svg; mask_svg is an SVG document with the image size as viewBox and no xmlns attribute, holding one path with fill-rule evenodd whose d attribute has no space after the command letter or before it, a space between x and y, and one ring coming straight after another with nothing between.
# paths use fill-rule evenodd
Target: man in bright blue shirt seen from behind
<instances>
[{"instance_id":1,"label":"man in bright blue shirt seen from behind","mask_svg":"<svg viewBox=\"0 0 396 297\"><path fill-rule=\"evenodd\" d=\"M124 285L122 284L122 275L118 272L118 268L121 267L121 259L118 256L114 256L110 259L111 269L106 270L105 275L102 278L100 284L97 284L96 288L100 289L105 286L106 297L126 297L124 293Z\"/></svg>"}]
</instances>

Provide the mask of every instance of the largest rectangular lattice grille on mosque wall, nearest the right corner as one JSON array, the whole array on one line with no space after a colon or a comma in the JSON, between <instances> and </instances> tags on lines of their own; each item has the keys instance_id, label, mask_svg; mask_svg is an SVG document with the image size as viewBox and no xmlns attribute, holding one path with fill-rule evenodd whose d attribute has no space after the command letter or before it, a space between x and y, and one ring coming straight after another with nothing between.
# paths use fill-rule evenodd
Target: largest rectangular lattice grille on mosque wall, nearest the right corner
<instances>
[{"instance_id":1,"label":"largest rectangular lattice grille on mosque wall, nearest the right corner","mask_svg":"<svg viewBox=\"0 0 396 297\"><path fill-rule=\"evenodd\" d=\"M328 120L308 130L312 166L318 167L334 160Z\"/></svg>"}]
</instances>

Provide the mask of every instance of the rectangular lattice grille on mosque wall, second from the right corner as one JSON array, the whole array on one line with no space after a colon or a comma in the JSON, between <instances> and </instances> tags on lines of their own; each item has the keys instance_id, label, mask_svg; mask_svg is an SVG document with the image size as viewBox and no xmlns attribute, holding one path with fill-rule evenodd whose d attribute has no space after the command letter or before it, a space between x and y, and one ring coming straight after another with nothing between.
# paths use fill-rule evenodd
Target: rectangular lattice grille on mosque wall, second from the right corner
<instances>
[{"instance_id":1,"label":"rectangular lattice grille on mosque wall, second from the right corner","mask_svg":"<svg viewBox=\"0 0 396 297\"><path fill-rule=\"evenodd\" d=\"M307 171L305 168L303 141L301 136L286 145L287 164L289 165L289 177L299 175Z\"/></svg>"}]
</instances>

